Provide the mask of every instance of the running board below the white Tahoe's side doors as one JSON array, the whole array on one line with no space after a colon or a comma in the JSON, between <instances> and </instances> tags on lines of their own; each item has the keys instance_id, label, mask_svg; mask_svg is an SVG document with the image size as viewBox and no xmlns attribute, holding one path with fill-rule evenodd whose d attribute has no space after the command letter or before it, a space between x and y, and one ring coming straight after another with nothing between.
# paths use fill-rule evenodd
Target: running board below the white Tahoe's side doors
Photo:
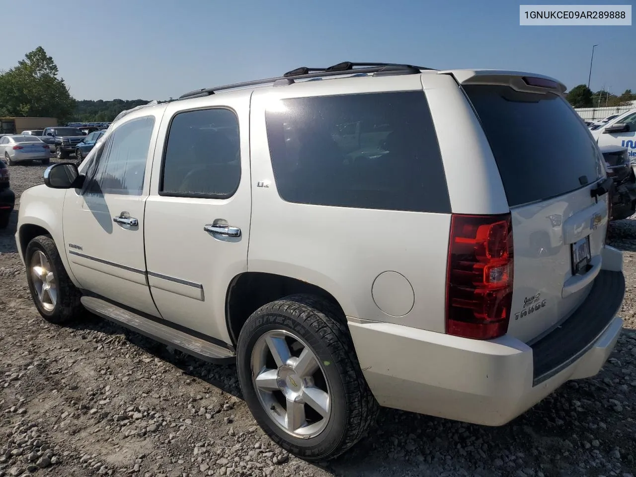
<instances>
[{"instance_id":1,"label":"running board below the white Tahoe's side doors","mask_svg":"<svg viewBox=\"0 0 636 477\"><path fill-rule=\"evenodd\" d=\"M81 304L95 315L204 361L217 364L235 361L234 353L222 346L130 312L109 301L93 296L82 296Z\"/></svg>"}]
</instances>

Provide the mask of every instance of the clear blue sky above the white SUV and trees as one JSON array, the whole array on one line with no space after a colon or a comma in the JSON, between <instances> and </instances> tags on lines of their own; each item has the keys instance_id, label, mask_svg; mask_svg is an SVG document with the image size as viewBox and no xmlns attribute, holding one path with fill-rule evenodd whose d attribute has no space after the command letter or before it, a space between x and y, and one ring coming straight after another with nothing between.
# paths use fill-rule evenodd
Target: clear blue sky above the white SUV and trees
<instances>
[{"instance_id":1,"label":"clear blue sky above the white SUV and trees","mask_svg":"<svg viewBox=\"0 0 636 477\"><path fill-rule=\"evenodd\" d=\"M636 92L634 24L520 26L509 0L0 3L3 18L21 18L3 21L0 70L43 46L80 100L165 100L342 61L513 69L572 88L587 84L595 43L591 89Z\"/></svg>"}]
</instances>

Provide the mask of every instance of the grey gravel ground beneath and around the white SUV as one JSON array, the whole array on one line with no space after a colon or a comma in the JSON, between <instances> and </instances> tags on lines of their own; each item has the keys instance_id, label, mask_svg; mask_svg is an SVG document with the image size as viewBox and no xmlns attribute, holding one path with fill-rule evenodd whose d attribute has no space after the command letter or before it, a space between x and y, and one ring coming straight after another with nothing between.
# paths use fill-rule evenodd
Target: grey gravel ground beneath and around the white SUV
<instances>
[{"instance_id":1,"label":"grey gravel ground beneath and around the white SUV","mask_svg":"<svg viewBox=\"0 0 636 477\"><path fill-rule=\"evenodd\" d=\"M44 167L11 167L16 195ZM352 452L322 465L256 426L233 366L212 366L86 314L71 328L32 305L13 234L0 231L0 477L622 476L636 474L636 219L625 251L623 335L592 379L568 382L497 428L385 409Z\"/></svg>"}]
</instances>

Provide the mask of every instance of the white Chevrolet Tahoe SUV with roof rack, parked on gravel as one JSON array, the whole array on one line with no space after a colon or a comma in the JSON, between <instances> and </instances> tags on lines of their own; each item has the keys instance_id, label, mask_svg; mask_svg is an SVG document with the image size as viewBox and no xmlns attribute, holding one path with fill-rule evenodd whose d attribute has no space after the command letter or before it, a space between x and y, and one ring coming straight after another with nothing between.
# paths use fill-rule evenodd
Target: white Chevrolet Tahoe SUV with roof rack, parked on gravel
<instances>
[{"instance_id":1,"label":"white Chevrolet Tahoe SUV with roof rack, parked on gravel","mask_svg":"<svg viewBox=\"0 0 636 477\"><path fill-rule=\"evenodd\" d=\"M22 195L34 302L235 361L261 427L308 460L378 404L505 424L621 332L611 179L564 90L343 63L131 111Z\"/></svg>"}]
</instances>

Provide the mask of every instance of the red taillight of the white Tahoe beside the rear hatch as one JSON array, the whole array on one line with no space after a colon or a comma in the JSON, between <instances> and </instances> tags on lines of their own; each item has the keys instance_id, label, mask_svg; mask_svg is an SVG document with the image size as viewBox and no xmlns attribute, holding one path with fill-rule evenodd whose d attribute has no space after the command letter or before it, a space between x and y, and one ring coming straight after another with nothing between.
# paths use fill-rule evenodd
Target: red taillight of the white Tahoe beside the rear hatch
<instances>
[{"instance_id":1,"label":"red taillight of the white Tahoe beside the rear hatch","mask_svg":"<svg viewBox=\"0 0 636 477\"><path fill-rule=\"evenodd\" d=\"M478 340L506 334L513 265L509 213L453 214L446 272L446 333Z\"/></svg>"}]
</instances>

